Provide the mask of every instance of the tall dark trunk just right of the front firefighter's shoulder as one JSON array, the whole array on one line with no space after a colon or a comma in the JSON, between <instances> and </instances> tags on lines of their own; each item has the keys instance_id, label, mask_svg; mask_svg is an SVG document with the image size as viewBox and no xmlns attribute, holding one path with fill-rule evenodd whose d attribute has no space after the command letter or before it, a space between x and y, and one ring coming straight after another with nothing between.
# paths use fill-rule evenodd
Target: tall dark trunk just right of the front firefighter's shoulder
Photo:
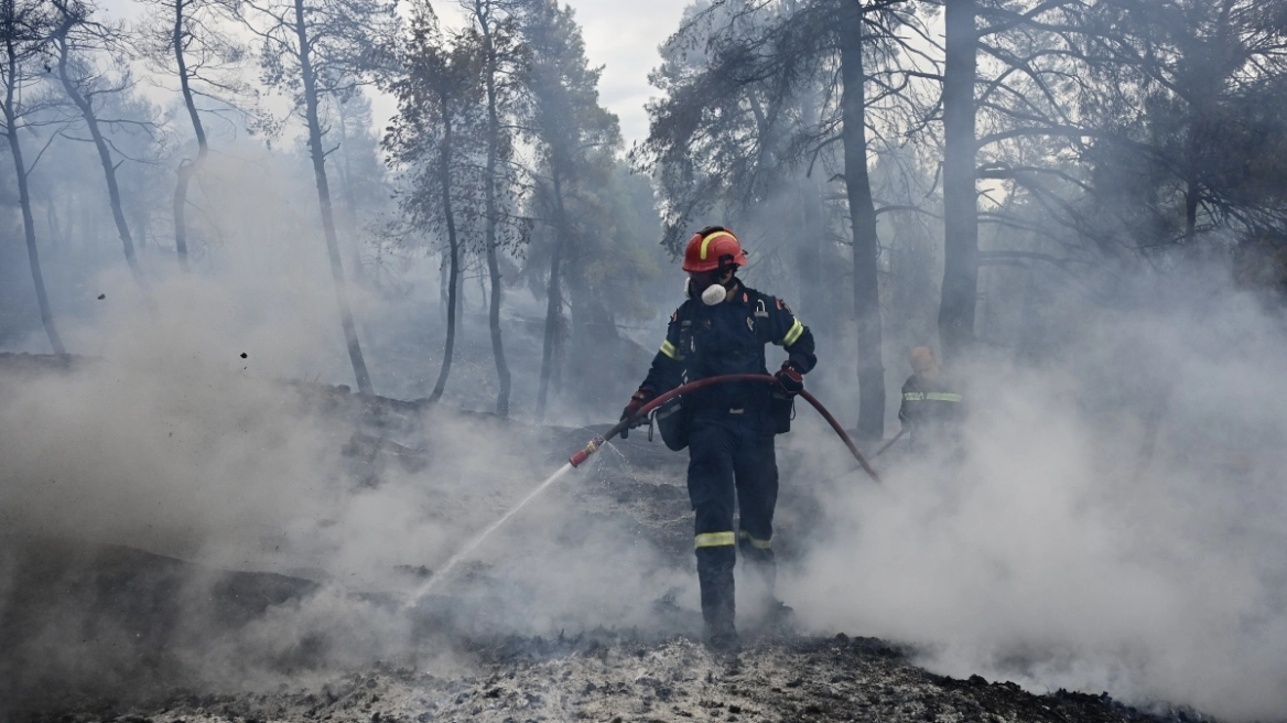
<instances>
[{"instance_id":1,"label":"tall dark trunk just right of the front firefighter's shoulder","mask_svg":"<svg viewBox=\"0 0 1287 723\"><path fill-rule=\"evenodd\" d=\"M884 436L884 362L882 359L880 293L876 256L876 208L867 175L866 73L862 66L862 4L849 0L840 17L840 100L844 138L844 187L853 228L853 316L858 342L858 434Z\"/></svg>"}]
</instances>

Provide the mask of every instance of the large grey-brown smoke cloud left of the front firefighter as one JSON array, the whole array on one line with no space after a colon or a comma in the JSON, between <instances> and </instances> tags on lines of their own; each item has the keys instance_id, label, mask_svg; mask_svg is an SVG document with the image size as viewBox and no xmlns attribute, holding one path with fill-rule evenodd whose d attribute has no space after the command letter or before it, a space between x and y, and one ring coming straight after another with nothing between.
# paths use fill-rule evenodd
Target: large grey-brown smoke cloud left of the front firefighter
<instances>
[{"instance_id":1,"label":"large grey-brown smoke cloud left of the front firefighter","mask_svg":"<svg viewBox=\"0 0 1287 723\"><path fill-rule=\"evenodd\" d=\"M219 212L202 219L198 273L144 256L149 311L112 265L59 314L85 358L67 371L0 359L6 705L454 665L470 637L655 628L653 601L689 581L602 502L618 472L596 463L488 540L461 580L402 607L589 434L456 413L461 398L493 401L475 383L490 359L457 359L459 395L427 409L288 383L351 383L317 201L297 178L283 158L211 157L202 193ZM431 280L408 297L350 286L389 396L417 396L438 372L436 266L417 274ZM534 368L538 342L511 336L511 363Z\"/></svg>"}]
</instances>

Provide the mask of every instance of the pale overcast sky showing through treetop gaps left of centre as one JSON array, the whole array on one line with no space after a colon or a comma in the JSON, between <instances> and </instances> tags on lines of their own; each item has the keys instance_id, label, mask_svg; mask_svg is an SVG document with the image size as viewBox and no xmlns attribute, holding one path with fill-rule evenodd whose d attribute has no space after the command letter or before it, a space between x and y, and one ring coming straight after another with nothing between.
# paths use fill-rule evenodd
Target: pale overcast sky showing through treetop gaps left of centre
<instances>
[{"instance_id":1,"label":"pale overcast sky showing through treetop gaps left of centre","mask_svg":"<svg viewBox=\"0 0 1287 723\"><path fill-rule=\"evenodd\" d=\"M100 0L103 8L118 18L136 18L147 9L138 0ZM577 22L586 33L589 62L604 66L600 82L602 104L622 120L622 136L627 147L647 135L644 103L653 94L647 73L660 62L656 46L680 24L683 8L692 0L570 0ZM434 3L444 21L459 14L457 0ZM247 72L257 71L247 68ZM160 100L160 99L156 99ZM382 129L394 105L389 99L373 99L376 125Z\"/></svg>"}]
</instances>

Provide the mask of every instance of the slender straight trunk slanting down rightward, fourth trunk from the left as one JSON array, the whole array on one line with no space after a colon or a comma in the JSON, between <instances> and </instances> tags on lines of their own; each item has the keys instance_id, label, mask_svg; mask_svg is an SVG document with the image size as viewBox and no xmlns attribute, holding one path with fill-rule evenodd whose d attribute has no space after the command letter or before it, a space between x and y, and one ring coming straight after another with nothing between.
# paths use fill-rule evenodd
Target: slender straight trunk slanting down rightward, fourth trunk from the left
<instances>
[{"instance_id":1,"label":"slender straight trunk slanting down rightward, fourth trunk from the left","mask_svg":"<svg viewBox=\"0 0 1287 723\"><path fill-rule=\"evenodd\" d=\"M335 298L340 306L340 324L344 327L344 340L349 345L349 360L353 363L353 373L358 380L358 391L375 394L371 376L367 373L367 362L362 358L362 345L358 343L358 329L353 323L353 309L349 306L349 292L344 286L344 262L340 260L340 239L335 230L331 187L326 176L322 122L318 120L317 77L313 75L313 50L309 45L308 26L304 22L304 0L295 0L295 33L300 42L300 77L304 82L304 116L309 126L309 154L313 157L313 175L318 187L318 205L322 210L322 230L326 234L326 248L331 257Z\"/></svg>"}]
</instances>

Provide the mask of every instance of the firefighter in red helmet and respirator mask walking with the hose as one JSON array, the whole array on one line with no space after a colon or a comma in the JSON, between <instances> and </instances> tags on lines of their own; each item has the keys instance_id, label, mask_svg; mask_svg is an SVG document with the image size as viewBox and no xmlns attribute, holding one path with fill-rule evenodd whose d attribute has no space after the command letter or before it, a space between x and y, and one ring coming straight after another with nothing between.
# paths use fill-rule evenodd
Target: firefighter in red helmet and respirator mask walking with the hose
<instances>
[{"instance_id":1,"label":"firefighter in red helmet and respirator mask walking with the hose","mask_svg":"<svg viewBox=\"0 0 1287 723\"><path fill-rule=\"evenodd\" d=\"M790 400L804 390L803 374L817 363L813 334L790 307L737 278L737 268L745 264L741 244L728 229L708 226L692 235L683 253L687 301L671 316L662 350L622 413L623 419L642 423L636 417L640 408L658 394L707 377L767 374L768 343L781 346L788 354L775 374L776 385L712 385L682 400L689 498L696 512L701 616L707 639L718 650L737 646L734 625L737 553L744 570L761 578L770 616L781 620L790 612L773 597L777 503L773 435L789 428ZM785 408L780 403L784 399ZM735 507L740 508L737 529L734 529Z\"/></svg>"}]
</instances>

